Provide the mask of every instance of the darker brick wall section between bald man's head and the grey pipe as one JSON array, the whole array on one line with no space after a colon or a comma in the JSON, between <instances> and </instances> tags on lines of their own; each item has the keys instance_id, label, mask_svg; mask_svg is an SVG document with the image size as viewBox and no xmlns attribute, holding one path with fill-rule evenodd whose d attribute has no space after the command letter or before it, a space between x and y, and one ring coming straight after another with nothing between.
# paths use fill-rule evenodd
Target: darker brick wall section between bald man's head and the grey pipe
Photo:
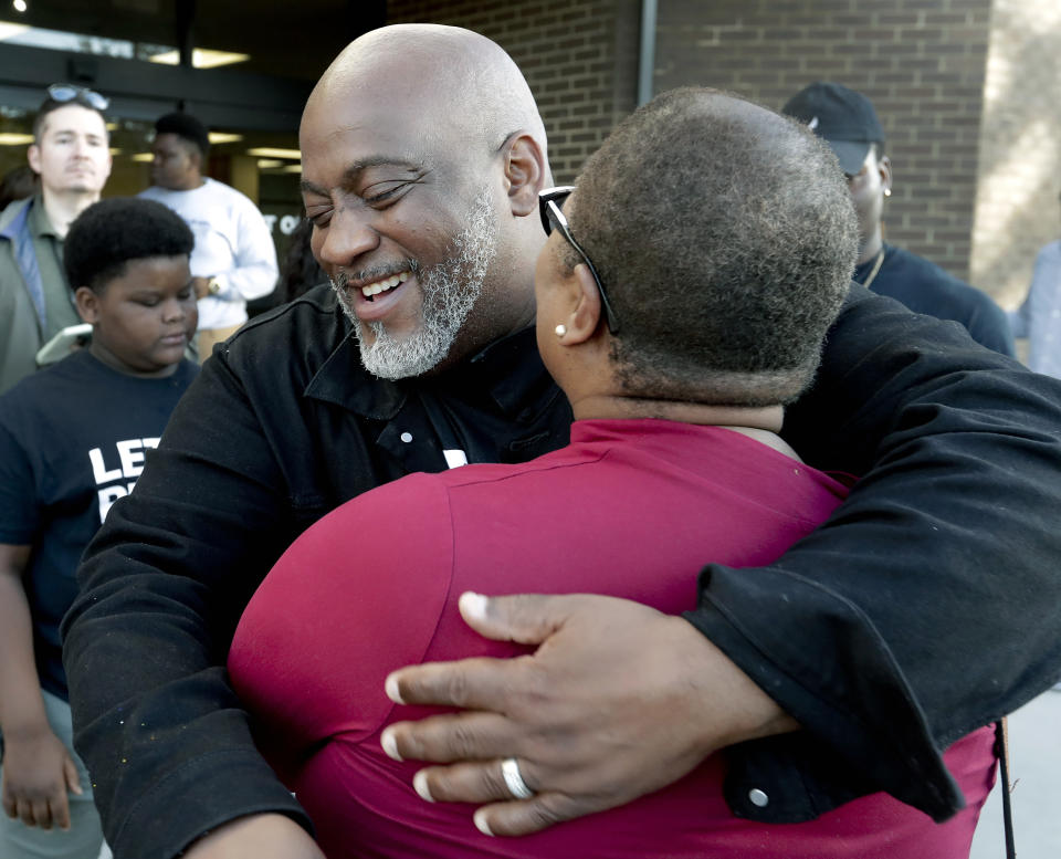
<instances>
[{"instance_id":1,"label":"darker brick wall section between bald man's head and the grey pipe","mask_svg":"<svg viewBox=\"0 0 1061 859\"><path fill-rule=\"evenodd\" d=\"M557 184L574 179L633 109L638 0L391 0L388 23L453 24L504 48L526 75Z\"/></svg>"}]
</instances>

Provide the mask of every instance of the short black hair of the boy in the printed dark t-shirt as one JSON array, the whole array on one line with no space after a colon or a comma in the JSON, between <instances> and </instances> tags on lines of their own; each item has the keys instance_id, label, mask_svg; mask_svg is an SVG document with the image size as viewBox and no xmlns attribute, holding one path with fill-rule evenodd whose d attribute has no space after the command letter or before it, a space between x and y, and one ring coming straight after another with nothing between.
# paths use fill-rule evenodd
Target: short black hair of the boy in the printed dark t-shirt
<instances>
[{"instance_id":1,"label":"short black hair of the boy in the printed dark t-shirt","mask_svg":"<svg viewBox=\"0 0 1061 859\"><path fill-rule=\"evenodd\" d=\"M90 206L71 224L63 264L71 289L102 293L130 260L190 254L195 243L188 224L160 202L112 197Z\"/></svg>"}]
</instances>

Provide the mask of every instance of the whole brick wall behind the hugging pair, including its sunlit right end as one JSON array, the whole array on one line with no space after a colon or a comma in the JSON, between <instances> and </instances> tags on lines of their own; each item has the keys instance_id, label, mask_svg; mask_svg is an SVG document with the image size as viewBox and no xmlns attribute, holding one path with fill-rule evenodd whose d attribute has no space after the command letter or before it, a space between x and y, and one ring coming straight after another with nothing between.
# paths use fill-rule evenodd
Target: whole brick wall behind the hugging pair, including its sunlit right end
<instances>
[{"instance_id":1,"label":"whole brick wall behind the hugging pair, including its sunlit right end","mask_svg":"<svg viewBox=\"0 0 1061 859\"><path fill-rule=\"evenodd\" d=\"M640 0L391 0L388 21L476 30L524 70L557 181L635 102ZM865 93L889 136L889 241L1013 305L1059 234L1061 0L659 0L655 92L779 108L815 80Z\"/></svg>"}]
</instances>

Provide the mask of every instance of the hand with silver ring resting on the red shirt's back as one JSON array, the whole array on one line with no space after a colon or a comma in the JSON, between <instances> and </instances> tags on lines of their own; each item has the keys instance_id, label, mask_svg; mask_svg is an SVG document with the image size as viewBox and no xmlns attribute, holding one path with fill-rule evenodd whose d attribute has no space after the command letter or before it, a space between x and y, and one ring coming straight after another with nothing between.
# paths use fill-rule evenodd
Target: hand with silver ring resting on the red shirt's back
<instances>
[{"instance_id":1,"label":"hand with silver ring resting on the red shirt's back","mask_svg":"<svg viewBox=\"0 0 1061 859\"><path fill-rule=\"evenodd\" d=\"M601 596L464 594L464 620L486 638L539 645L516 659L405 668L399 703L470 712L399 722L381 737L421 769L424 798L486 803L487 835L526 835L659 790L722 746L790 731L787 716L680 617ZM535 796L513 802L502 761Z\"/></svg>"}]
</instances>

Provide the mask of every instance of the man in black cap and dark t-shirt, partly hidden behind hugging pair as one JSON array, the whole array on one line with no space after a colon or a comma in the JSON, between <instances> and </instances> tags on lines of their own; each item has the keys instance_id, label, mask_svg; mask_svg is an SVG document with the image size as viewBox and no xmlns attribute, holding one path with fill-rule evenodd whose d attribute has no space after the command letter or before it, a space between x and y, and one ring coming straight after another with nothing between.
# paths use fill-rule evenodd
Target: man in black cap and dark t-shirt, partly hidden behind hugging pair
<instances>
[{"instance_id":1,"label":"man in black cap and dark t-shirt, partly hidden behind hugging pair","mask_svg":"<svg viewBox=\"0 0 1061 859\"><path fill-rule=\"evenodd\" d=\"M822 137L847 174L859 216L859 261L854 280L916 313L960 322L973 339L1013 355L1006 315L985 293L881 234L884 198L892 193L892 165L883 154L884 130L873 104L861 93L819 81L794 95L781 112Z\"/></svg>"}]
</instances>

